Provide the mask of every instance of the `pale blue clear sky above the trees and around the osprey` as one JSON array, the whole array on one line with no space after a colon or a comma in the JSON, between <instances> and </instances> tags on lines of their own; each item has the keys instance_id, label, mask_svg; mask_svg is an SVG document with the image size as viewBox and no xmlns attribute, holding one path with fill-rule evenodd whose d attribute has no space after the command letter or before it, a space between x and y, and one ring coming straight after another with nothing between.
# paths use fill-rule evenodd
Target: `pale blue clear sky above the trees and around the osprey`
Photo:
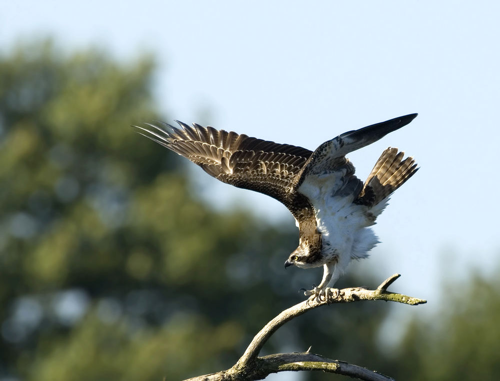
<instances>
[{"instance_id":1,"label":"pale blue clear sky above the trees and around the osprey","mask_svg":"<svg viewBox=\"0 0 500 381\"><path fill-rule=\"evenodd\" d=\"M435 306L443 279L498 269L498 14L497 1L2 1L0 48L49 35L120 59L152 52L168 121L309 149L418 112L350 155L361 178L388 146L420 165L375 226L382 244L351 269L401 273L397 291ZM293 225L276 201L192 173L226 196L206 196L218 206Z\"/></svg>"}]
</instances>

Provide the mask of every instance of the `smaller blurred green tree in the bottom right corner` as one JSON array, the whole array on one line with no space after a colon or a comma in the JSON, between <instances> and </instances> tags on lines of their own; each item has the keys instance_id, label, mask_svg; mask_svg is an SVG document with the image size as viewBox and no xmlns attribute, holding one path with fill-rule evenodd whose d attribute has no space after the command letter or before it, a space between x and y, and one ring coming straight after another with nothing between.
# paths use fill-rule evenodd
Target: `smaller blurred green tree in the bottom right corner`
<instances>
[{"instance_id":1,"label":"smaller blurred green tree in the bottom right corner","mask_svg":"<svg viewBox=\"0 0 500 381\"><path fill-rule=\"evenodd\" d=\"M396 380L498 380L500 280L478 276L450 282L444 301L426 319L413 320L390 357ZM382 362L383 360L381 360Z\"/></svg>"}]
</instances>

